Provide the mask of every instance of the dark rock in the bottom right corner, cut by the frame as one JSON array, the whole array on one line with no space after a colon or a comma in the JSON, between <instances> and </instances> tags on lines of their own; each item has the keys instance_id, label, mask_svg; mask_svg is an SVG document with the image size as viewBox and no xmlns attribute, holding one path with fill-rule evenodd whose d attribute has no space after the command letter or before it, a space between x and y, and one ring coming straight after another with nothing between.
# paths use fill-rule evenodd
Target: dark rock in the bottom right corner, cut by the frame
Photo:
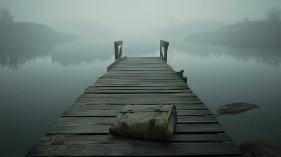
<instances>
[{"instance_id":1,"label":"dark rock in the bottom right corner, cut by the frame","mask_svg":"<svg viewBox=\"0 0 281 157\"><path fill-rule=\"evenodd\" d=\"M239 149L244 157L280 157L281 146L266 142L244 142L240 144Z\"/></svg>"}]
</instances>

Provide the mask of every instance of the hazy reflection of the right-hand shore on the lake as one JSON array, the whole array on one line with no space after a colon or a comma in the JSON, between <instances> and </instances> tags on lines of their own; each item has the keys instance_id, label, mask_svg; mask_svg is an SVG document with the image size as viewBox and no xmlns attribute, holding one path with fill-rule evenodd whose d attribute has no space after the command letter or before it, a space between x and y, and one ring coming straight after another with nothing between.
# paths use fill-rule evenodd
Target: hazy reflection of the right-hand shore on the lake
<instances>
[{"instance_id":1,"label":"hazy reflection of the right-hand shore on the lake","mask_svg":"<svg viewBox=\"0 0 281 157\"><path fill-rule=\"evenodd\" d=\"M200 58L210 58L211 55L214 57L222 57L223 55L226 55L235 58L239 62L247 63L250 60L254 60L259 64L266 64L267 66L274 68L279 67L281 62L280 50L234 48L195 43L183 44L183 42L171 44L170 47L171 49L174 49L174 51L183 51ZM171 52L171 50L169 52Z\"/></svg>"}]
</instances>

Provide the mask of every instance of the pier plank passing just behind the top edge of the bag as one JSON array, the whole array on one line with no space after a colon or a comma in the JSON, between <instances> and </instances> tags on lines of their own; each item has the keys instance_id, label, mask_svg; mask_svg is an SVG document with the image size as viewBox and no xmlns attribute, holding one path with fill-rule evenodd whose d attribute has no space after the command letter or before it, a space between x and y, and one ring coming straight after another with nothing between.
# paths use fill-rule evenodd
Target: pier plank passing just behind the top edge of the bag
<instances>
[{"instance_id":1,"label":"pier plank passing just behind the top edge of the bag","mask_svg":"<svg viewBox=\"0 0 281 157\"><path fill-rule=\"evenodd\" d=\"M157 104L158 105L158 104ZM91 110L91 109L100 109L100 110L122 110L126 104L73 104L73 107L85 107L81 109ZM208 110L208 107L204 104L175 104L176 109L178 110ZM89 107L89 108L87 108Z\"/></svg>"}]
</instances>

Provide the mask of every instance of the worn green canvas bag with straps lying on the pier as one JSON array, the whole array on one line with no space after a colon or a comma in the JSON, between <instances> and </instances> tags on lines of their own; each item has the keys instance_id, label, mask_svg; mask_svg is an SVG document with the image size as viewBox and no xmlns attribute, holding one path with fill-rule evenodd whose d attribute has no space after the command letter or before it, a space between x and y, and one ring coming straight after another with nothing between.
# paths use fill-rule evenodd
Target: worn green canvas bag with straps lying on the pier
<instances>
[{"instance_id":1,"label":"worn green canvas bag with straps lying on the pier","mask_svg":"<svg viewBox=\"0 0 281 157\"><path fill-rule=\"evenodd\" d=\"M110 127L110 135L150 141L170 141L178 121L174 104L131 105L121 111Z\"/></svg>"}]
</instances>

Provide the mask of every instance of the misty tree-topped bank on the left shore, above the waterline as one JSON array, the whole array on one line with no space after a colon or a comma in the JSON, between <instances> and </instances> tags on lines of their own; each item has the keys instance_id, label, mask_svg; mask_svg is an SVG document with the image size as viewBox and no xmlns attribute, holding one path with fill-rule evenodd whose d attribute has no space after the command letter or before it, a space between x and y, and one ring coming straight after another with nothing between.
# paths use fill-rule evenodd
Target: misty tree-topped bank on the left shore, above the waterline
<instances>
[{"instance_id":1,"label":"misty tree-topped bank on the left shore, above the waterline","mask_svg":"<svg viewBox=\"0 0 281 157\"><path fill-rule=\"evenodd\" d=\"M0 8L0 53L46 50L77 39L79 36L57 32L47 25L14 22L10 11L3 6Z\"/></svg>"}]
</instances>

